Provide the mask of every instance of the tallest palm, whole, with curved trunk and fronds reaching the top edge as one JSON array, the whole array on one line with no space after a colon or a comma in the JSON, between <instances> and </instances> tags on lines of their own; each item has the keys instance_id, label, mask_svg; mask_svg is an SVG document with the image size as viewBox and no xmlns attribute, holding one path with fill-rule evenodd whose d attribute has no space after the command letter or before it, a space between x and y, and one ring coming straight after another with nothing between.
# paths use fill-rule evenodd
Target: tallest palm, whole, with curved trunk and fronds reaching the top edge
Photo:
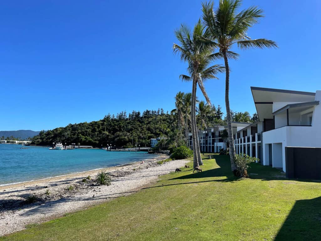
<instances>
[{"instance_id":1,"label":"tallest palm, whole, with curved trunk and fronds reaching the top edge","mask_svg":"<svg viewBox=\"0 0 321 241\"><path fill-rule=\"evenodd\" d=\"M224 59L225 63L225 104L227 114L227 126L230 144L230 160L232 172L235 171L235 147L232 132L232 122L230 114L230 69L229 58L237 59L238 54L230 49L235 44L239 49L250 48L277 48L276 42L267 39L254 39L252 40L247 36L247 30L262 18L263 10L256 6L250 7L236 13L241 5L241 0L221 0L216 11L213 11L213 2L203 3L203 20L206 26L206 31L211 35L216 48L219 49L218 53L213 53L213 59ZM205 42L207 42L205 40Z\"/></svg>"}]
</instances>

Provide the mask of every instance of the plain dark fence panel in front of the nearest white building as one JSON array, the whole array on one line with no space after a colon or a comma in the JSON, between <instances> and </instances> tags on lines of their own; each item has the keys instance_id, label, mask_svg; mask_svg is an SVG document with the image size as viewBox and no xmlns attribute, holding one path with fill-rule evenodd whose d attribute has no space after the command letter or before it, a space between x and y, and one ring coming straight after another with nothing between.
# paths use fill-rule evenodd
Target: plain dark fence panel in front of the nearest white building
<instances>
[{"instance_id":1,"label":"plain dark fence panel in front of the nearest white building","mask_svg":"<svg viewBox=\"0 0 321 241\"><path fill-rule=\"evenodd\" d=\"M321 147L285 147L288 178L321 179Z\"/></svg>"}]
</instances>

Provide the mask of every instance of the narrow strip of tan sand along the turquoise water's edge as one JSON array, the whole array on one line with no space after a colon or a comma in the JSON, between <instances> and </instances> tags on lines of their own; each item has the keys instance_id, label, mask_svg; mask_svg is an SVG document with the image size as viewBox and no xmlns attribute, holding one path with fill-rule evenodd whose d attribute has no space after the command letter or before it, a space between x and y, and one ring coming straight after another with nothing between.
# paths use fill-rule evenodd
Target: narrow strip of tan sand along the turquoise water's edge
<instances>
[{"instance_id":1,"label":"narrow strip of tan sand along the turquoise water's edge","mask_svg":"<svg viewBox=\"0 0 321 241\"><path fill-rule=\"evenodd\" d=\"M154 158L144 159L142 161L150 162L150 161L153 161L155 158L159 158L161 156L161 155L158 155L158 154L156 154L156 155L157 156L155 156ZM87 171L73 172L73 173L68 173L68 174L63 174L63 175L58 175L58 176L52 176L52 177L45 177L45 178L40 178L40 179L35 179L35 180L30 180L30 181L22 181L22 182L17 182L17 183L0 184L0 191L3 190L3 189L6 189L6 188L24 186L26 184L33 184L33 183L37 183L37 182L52 181L52 180L56 180L56 178L60 178L60 177L63 178L63 177L74 176L74 175L78 175L78 174L92 173L94 171L101 170L101 169L110 169L110 168L113 168L113 167L122 167L122 166L127 166L127 165L133 165L133 164L136 164L136 163L141 163L142 161L135 161L135 162L130 162L130 163L116 165L116 166L100 167L100 168L90 169L90 170L87 170Z\"/></svg>"}]
</instances>

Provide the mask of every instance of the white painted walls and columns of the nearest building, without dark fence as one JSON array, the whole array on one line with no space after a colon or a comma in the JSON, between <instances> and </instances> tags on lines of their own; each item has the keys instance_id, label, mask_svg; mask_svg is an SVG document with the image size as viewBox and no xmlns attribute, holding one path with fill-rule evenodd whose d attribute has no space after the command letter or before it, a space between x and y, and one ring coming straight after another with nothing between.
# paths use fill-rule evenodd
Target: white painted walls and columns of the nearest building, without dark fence
<instances>
[{"instance_id":1,"label":"white painted walls and columns of the nearest building, without dark fence","mask_svg":"<svg viewBox=\"0 0 321 241\"><path fill-rule=\"evenodd\" d=\"M254 87L256 88L256 87ZM286 172L285 147L321 147L321 91L313 93L297 93L291 91L268 89L261 91L264 94L253 94L258 113L261 117L274 118L274 129L264 132L264 123L261 120L257 123L257 133L251 135L251 127L247 127L247 136L243 138L243 130L239 131L239 137L235 140L237 154L246 153L252 156L253 148L256 148L256 157L262 149L261 161L263 165L282 168ZM271 93L271 98L269 94ZM261 97L261 95L263 97ZM266 101L266 105L262 102ZM260 99L257 101L257 99ZM276 99L277 101L273 101ZM289 100L289 101L287 101ZM292 105L301 103L301 105ZM302 104L306 103L305 106ZM311 104L310 104L311 103ZM272 108L270 108L269 106ZM290 106L288 106L290 104ZM284 108L283 108L284 107ZM265 108L264 110L260 108ZM282 109L283 108L283 109ZM272 113L268 113L268 110ZM260 118L259 115L259 118ZM258 141L257 136L262 136ZM248 138L250 136L250 138ZM250 140L250 141L249 141ZM262 142L262 143L261 143ZM250 147L250 153L248 152ZM272 147L272 153L269 151ZM270 160L272 163L270 163Z\"/></svg>"}]
</instances>

